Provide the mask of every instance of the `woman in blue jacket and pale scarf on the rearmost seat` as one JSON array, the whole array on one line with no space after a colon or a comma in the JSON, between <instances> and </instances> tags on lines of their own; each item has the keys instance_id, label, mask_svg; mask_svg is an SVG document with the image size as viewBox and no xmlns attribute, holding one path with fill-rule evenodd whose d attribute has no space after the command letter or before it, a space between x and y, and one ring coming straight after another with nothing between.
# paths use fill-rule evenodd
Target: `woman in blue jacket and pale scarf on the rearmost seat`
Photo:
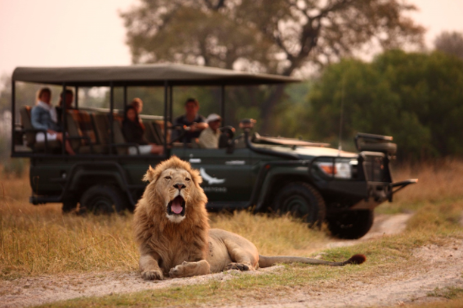
<instances>
[{"instance_id":1,"label":"woman in blue jacket and pale scarf on the rearmost seat","mask_svg":"<svg viewBox=\"0 0 463 308\"><path fill-rule=\"evenodd\" d=\"M63 142L63 133L61 127L57 124L58 118L56 109L51 106L51 91L49 88L42 88L39 90L37 95L37 104L32 108L30 112L30 121L35 129L46 130L47 141L58 140ZM45 133L38 132L35 134L36 142L45 141ZM69 141L66 140L64 144L66 152L70 155L75 155L73 148L70 146Z\"/></svg>"}]
</instances>

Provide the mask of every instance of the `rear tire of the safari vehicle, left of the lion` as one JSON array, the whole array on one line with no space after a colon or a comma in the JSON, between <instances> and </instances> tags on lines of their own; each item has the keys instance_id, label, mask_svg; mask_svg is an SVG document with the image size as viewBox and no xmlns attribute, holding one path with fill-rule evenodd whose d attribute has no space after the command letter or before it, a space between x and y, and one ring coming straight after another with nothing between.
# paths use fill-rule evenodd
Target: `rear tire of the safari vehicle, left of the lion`
<instances>
[{"instance_id":1,"label":"rear tire of the safari vehicle, left of the lion","mask_svg":"<svg viewBox=\"0 0 463 308\"><path fill-rule=\"evenodd\" d=\"M126 208L125 198L113 186L95 185L80 198L79 213L112 214Z\"/></svg>"}]
</instances>

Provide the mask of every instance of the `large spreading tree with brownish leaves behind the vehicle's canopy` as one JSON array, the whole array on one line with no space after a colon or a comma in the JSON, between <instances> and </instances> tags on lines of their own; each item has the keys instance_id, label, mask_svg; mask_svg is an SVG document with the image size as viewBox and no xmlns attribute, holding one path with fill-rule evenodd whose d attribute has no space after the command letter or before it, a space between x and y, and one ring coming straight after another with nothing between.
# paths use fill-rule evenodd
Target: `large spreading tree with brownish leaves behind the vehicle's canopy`
<instances>
[{"instance_id":1,"label":"large spreading tree with brownish leaves behind the vehicle's canopy","mask_svg":"<svg viewBox=\"0 0 463 308\"><path fill-rule=\"evenodd\" d=\"M121 13L134 63L177 62L292 75L365 46L422 45L398 0L140 0ZM283 95L260 105L268 131Z\"/></svg>"}]
</instances>

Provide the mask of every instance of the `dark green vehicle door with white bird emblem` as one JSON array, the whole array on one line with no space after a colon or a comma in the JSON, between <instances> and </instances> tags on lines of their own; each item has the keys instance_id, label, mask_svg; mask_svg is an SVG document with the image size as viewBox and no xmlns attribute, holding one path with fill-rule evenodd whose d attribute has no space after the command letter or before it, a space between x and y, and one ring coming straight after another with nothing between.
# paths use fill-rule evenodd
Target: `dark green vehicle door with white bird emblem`
<instances>
[{"instance_id":1,"label":"dark green vehicle door with white bird emblem","mask_svg":"<svg viewBox=\"0 0 463 308\"><path fill-rule=\"evenodd\" d=\"M251 198L251 154L247 148L185 149L184 160L200 171L208 209L243 208Z\"/></svg>"}]
</instances>

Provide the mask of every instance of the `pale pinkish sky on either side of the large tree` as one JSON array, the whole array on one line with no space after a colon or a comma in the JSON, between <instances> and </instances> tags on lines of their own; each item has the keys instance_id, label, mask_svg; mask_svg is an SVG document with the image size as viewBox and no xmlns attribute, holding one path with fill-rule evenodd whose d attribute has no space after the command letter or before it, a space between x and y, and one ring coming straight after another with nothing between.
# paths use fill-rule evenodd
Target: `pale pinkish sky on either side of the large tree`
<instances>
[{"instance_id":1,"label":"pale pinkish sky on either side of the large tree","mask_svg":"<svg viewBox=\"0 0 463 308\"><path fill-rule=\"evenodd\" d=\"M17 66L128 65L118 11L138 0L0 0L0 75ZM443 30L463 32L463 0L408 0L432 47Z\"/></svg>"}]
</instances>

